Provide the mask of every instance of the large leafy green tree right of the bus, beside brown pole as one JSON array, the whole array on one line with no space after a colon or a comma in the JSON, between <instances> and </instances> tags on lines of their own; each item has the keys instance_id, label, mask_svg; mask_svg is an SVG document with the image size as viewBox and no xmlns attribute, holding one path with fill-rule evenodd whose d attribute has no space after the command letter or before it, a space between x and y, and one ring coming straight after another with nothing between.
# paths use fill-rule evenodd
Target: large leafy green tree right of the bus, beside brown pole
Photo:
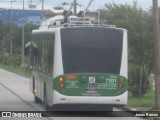
<instances>
[{"instance_id":1,"label":"large leafy green tree right of the bus, beside brown pole","mask_svg":"<svg viewBox=\"0 0 160 120\"><path fill-rule=\"evenodd\" d=\"M108 24L128 30L129 90L142 96L150 88L148 77L152 71L151 14L133 6L106 4L101 17Z\"/></svg>"}]
</instances>

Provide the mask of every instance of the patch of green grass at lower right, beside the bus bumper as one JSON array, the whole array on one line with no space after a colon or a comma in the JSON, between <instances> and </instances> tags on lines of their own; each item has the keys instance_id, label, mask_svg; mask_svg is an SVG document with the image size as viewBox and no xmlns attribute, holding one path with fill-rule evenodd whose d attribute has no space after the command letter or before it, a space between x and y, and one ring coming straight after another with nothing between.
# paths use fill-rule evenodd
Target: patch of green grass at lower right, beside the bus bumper
<instances>
[{"instance_id":1,"label":"patch of green grass at lower right, beside the bus bumper","mask_svg":"<svg viewBox=\"0 0 160 120\"><path fill-rule=\"evenodd\" d=\"M132 97L129 93L128 96L128 107L137 107L137 108L151 108L155 103L155 91L150 90L141 98Z\"/></svg>"}]
</instances>

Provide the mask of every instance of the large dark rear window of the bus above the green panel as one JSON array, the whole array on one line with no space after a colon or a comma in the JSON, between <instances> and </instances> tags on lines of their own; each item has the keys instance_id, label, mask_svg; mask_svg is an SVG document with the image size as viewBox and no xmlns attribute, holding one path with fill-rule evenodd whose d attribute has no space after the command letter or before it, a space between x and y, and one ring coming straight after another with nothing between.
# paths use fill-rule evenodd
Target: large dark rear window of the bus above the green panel
<instances>
[{"instance_id":1,"label":"large dark rear window of the bus above the green panel","mask_svg":"<svg viewBox=\"0 0 160 120\"><path fill-rule=\"evenodd\" d=\"M123 31L114 28L61 29L64 73L119 74Z\"/></svg>"}]
</instances>

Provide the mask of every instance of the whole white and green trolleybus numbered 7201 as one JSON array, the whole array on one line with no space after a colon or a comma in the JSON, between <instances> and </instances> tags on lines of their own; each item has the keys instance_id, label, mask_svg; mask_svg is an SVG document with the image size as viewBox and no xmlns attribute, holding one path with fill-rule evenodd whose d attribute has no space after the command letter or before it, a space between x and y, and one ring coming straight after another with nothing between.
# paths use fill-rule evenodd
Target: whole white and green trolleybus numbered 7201
<instances>
[{"instance_id":1,"label":"whole white and green trolleybus numbered 7201","mask_svg":"<svg viewBox=\"0 0 160 120\"><path fill-rule=\"evenodd\" d=\"M32 31L31 89L46 110L109 110L128 98L127 30L55 16Z\"/></svg>"}]
</instances>

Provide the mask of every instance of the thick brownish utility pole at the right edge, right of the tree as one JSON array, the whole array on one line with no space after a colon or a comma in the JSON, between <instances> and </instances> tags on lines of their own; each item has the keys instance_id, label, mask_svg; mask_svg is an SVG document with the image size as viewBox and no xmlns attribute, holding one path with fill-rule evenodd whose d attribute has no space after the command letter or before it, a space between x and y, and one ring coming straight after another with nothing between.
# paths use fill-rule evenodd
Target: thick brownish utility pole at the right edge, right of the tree
<instances>
[{"instance_id":1,"label":"thick brownish utility pole at the right edge, right of the tree","mask_svg":"<svg viewBox=\"0 0 160 120\"><path fill-rule=\"evenodd\" d=\"M153 0L155 107L160 109L160 36L158 0Z\"/></svg>"}]
</instances>

